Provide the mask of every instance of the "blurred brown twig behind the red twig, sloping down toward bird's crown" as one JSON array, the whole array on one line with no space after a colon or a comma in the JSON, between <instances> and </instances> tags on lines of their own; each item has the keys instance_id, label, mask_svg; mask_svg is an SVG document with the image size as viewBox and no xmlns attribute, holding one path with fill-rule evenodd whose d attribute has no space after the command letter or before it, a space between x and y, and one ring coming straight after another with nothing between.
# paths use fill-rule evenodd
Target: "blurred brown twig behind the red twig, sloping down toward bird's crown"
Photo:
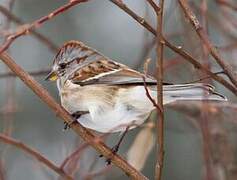
<instances>
[{"instance_id":1,"label":"blurred brown twig behind the red twig, sloping down toward bird's crown","mask_svg":"<svg viewBox=\"0 0 237 180\"><path fill-rule=\"evenodd\" d=\"M25 24L24 21L22 21L20 18L18 18L17 16L15 16L14 14L12 14L10 11L8 11L6 8L0 6L0 11L1 13L3 13L8 19L12 20L13 22L15 22L18 25L23 25ZM44 43L45 45L47 45L49 47L49 49L51 49L53 52L57 52L59 50L59 47L54 44L51 40L49 40L47 37L45 37L44 35L42 35L41 33L35 31L35 30L31 30L31 33L34 37L36 37L39 41L41 41L42 43Z\"/></svg>"}]
</instances>

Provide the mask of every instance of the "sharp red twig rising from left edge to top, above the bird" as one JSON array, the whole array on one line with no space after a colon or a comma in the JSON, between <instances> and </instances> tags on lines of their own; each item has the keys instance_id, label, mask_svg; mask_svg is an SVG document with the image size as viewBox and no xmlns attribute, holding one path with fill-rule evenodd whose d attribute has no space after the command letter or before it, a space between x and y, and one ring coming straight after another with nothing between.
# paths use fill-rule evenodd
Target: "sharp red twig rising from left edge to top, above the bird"
<instances>
[{"instance_id":1,"label":"sharp red twig rising from left edge to top, above the bird","mask_svg":"<svg viewBox=\"0 0 237 180\"><path fill-rule=\"evenodd\" d=\"M29 34L29 32L31 32L33 29L41 26L43 23L47 22L48 20L52 19L53 17L63 13L64 11L72 8L73 6L86 2L88 0L71 0L69 1L67 4L59 7L58 9L54 10L53 12L51 12L50 14L41 17L40 19L34 21L32 24L29 24L28 26L26 26L25 28L20 29L19 31L17 31L16 33L13 33L12 35L10 35L7 38L7 41L1 46L0 48L0 54L5 51L11 44L12 42L19 38L20 36Z\"/></svg>"}]
</instances>

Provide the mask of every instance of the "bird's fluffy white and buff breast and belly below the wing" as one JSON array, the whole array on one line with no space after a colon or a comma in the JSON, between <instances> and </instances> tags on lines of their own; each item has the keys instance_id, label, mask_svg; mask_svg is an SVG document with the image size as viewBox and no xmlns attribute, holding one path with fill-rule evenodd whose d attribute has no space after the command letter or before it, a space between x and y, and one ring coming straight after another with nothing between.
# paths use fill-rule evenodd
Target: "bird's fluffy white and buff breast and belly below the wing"
<instances>
[{"instance_id":1,"label":"bird's fluffy white and buff breast and belly below the wing","mask_svg":"<svg viewBox=\"0 0 237 180\"><path fill-rule=\"evenodd\" d=\"M147 99L143 86L121 88L115 92L111 86L81 87L67 82L60 94L63 107L70 113L90 112L81 116L78 122L104 133L124 131L131 123L140 125L154 108Z\"/></svg>"}]
</instances>

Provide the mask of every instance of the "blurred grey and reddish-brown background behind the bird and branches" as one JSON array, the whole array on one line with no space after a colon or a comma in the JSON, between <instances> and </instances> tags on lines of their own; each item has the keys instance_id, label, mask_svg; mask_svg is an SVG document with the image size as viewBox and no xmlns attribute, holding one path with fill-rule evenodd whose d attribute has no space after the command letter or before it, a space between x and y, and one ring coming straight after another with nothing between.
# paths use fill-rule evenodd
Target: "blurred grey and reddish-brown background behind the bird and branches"
<instances>
[{"instance_id":1,"label":"blurred grey and reddish-brown background behind the bird and branches","mask_svg":"<svg viewBox=\"0 0 237 180\"><path fill-rule=\"evenodd\" d=\"M10 5L9 2L11 1L0 0L0 5L23 22L31 23L68 1L16 0ZM156 27L155 13L145 0L123 2ZM236 70L236 9L225 6L218 0L188 2L221 56ZM234 0L228 2L237 6ZM15 32L19 28L19 24L7 19L4 14L6 15L0 13L1 42L4 42L9 32ZM148 72L151 75L156 73L154 36L107 0L90 0L79 4L46 22L37 28L37 32L58 47L69 40L82 41L111 59L140 71L143 71L144 61L151 58ZM165 1L164 32L167 39L182 46L210 70L221 70L203 49L176 0ZM45 71L50 68L57 52L54 47L49 48L47 43L34 35L27 35L18 38L8 52L25 70L39 72L34 77L59 102L56 85L44 81ZM83 148L83 141L72 130L63 131L62 121L18 78L4 76L7 72L9 70L0 63L1 133L36 149L58 166L72 152L81 148L80 153L64 166L65 171L75 179L128 179L115 166L107 167L104 158L99 158L99 154L92 148ZM164 74L165 81L171 83L187 83L206 76L168 48L165 49ZM237 99L221 84L211 79L206 79L205 82L213 84L218 92L227 96L229 102L192 102L188 106L180 102L165 108L163 179L207 179L207 174L210 175L211 172L214 175L212 179L237 178ZM147 124L130 131L119 151L120 155L149 179L154 177L156 160L155 121L154 113ZM110 147L118 139L119 134L106 136ZM209 168L211 172L207 172L206 169ZM6 180L60 179L58 174L28 154L1 142L0 174L0 179Z\"/></svg>"}]
</instances>

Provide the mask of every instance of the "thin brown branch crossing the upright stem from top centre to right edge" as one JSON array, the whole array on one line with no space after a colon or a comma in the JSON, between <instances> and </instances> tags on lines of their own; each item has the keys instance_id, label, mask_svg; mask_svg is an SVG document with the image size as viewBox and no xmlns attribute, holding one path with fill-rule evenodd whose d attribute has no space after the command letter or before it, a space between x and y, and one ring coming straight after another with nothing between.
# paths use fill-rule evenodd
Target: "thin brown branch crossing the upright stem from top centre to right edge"
<instances>
[{"instance_id":1,"label":"thin brown branch crossing the upright stem from top centre to right edge","mask_svg":"<svg viewBox=\"0 0 237 180\"><path fill-rule=\"evenodd\" d=\"M124 12L126 12L128 15L130 15L135 21L137 21L140 25L142 25L144 28L146 28L148 31L150 31L154 36L156 36L156 30L149 25L143 18L138 16L136 13L134 13L131 9L129 9L122 1L118 0L109 0L113 2L115 5L117 5L120 9L122 9ZM142 20L142 21L141 21ZM207 75L211 76L214 80L221 83L223 86L225 86L227 89L229 89L233 94L237 95L237 88L234 87L232 84L230 84L228 81L226 81L224 78L215 75L212 73L209 69L207 69L205 66L203 66L201 63L199 63L197 60L195 60L190 54L182 50L182 47L177 47L170 43L165 37L163 37L163 41L165 46L172 49L175 53L182 56L186 61L193 64L194 67L200 69L201 71L205 72Z\"/></svg>"}]
</instances>

